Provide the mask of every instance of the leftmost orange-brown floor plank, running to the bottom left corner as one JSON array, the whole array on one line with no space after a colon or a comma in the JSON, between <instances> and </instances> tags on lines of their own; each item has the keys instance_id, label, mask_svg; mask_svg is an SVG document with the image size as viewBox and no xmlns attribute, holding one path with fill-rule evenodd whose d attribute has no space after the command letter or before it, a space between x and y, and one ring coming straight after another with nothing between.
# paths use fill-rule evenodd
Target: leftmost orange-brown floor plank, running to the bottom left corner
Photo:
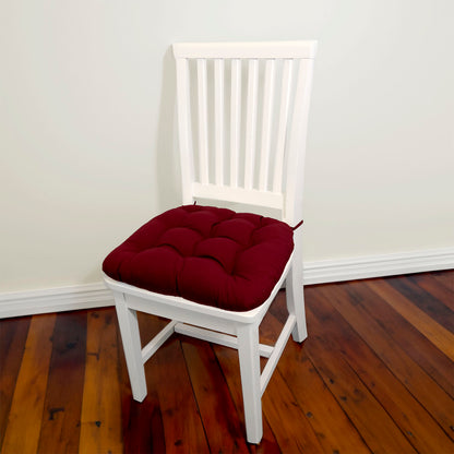
<instances>
[{"instance_id":1,"label":"leftmost orange-brown floor plank, running to the bottom left corner","mask_svg":"<svg viewBox=\"0 0 454 454\"><path fill-rule=\"evenodd\" d=\"M3 439L3 454L37 451L55 323L55 314L32 319Z\"/></svg>"}]
</instances>

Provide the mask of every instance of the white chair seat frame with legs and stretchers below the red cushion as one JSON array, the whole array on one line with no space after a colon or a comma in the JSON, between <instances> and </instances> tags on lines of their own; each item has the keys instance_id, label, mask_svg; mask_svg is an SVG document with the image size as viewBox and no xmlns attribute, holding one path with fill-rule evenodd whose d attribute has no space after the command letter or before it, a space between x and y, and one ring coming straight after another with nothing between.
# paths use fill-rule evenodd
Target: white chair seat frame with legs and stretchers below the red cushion
<instances>
[{"instance_id":1,"label":"white chair seat frame with legs and stretchers below the red cushion","mask_svg":"<svg viewBox=\"0 0 454 454\"><path fill-rule=\"evenodd\" d=\"M156 294L115 280L104 274L104 280L112 291L116 302L133 398L142 402L146 397L144 363L174 333L235 348L239 354L247 439L250 443L260 443L263 434L262 395L290 334L296 342L302 342L307 337L304 308L303 304L301 306L302 287L297 284L300 279L291 278L295 273L294 267L292 253L266 301L244 312L228 311L181 297ZM289 312L287 321L274 346L260 344L259 326L286 280ZM298 300L299 304L295 304ZM170 320L143 347L136 311ZM267 358L262 372L261 356Z\"/></svg>"}]
</instances>

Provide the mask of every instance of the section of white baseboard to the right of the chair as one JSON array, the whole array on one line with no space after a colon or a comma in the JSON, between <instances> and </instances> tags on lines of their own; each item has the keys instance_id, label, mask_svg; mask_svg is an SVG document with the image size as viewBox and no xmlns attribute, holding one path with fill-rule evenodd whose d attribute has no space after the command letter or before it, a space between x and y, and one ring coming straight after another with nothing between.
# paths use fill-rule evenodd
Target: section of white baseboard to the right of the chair
<instances>
[{"instance_id":1,"label":"section of white baseboard to the right of the chair","mask_svg":"<svg viewBox=\"0 0 454 454\"><path fill-rule=\"evenodd\" d=\"M454 268L454 248L304 263L304 284L335 283Z\"/></svg>"}]
</instances>

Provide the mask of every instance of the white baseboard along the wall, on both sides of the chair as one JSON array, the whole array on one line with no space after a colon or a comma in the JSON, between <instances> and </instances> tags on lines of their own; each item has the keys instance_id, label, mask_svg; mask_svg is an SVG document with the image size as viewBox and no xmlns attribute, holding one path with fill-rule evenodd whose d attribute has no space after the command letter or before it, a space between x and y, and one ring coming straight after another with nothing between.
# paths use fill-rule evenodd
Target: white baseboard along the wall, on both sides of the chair
<instances>
[{"instance_id":1,"label":"white baseboard along the wall, on both sides of the chair","mask_svg":"<svg viewBox=\"0 0 454 454\"><path fill-rule=\"evenodd\" d=\"M304 284L454 268L454 248L304 263ZM0 319L113 306L103 283L0 294Z\"/></svg>"}]
</instances>

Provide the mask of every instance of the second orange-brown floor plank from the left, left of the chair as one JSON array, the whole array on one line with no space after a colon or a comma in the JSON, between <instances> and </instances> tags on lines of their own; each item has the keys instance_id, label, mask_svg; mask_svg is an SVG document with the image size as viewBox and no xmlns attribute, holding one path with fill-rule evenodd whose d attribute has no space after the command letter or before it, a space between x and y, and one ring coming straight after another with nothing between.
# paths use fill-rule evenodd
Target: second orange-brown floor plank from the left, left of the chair
<instances>
[{"instance_id":1,"label":"second orange-brown floor plank from the left, left of the chair","mask_svg":"<svg viewBox=\"0 0 454 454\"><path fill-rule=\"evenodd\" d=\"M122 453L118 344L111 308L88 311L80 453Z\"/></svg>"}]
</instances>

